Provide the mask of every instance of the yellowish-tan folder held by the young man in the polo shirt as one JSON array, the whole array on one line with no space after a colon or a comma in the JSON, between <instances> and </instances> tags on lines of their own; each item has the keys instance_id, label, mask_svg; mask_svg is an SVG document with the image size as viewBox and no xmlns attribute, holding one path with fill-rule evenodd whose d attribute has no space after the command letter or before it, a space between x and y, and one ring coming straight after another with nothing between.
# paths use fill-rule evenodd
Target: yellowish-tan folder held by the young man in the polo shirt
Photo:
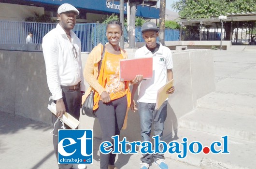
<instances>
[{"instance_id":1,"label":"yellowish-tan folder held by the young man in the polo shirt","mask_svg":"<svg viewBox=\"0 0 256 169\"><path fill-rule=\"evenodd\" d=\"M170 82L162 86L157 90L157 97L156 97L156 107L155 109L158 110L163 102L169 97L169 94L166 93L168 89L170 89L173 85L173 79Z\"/></svg>"}]
</instances>

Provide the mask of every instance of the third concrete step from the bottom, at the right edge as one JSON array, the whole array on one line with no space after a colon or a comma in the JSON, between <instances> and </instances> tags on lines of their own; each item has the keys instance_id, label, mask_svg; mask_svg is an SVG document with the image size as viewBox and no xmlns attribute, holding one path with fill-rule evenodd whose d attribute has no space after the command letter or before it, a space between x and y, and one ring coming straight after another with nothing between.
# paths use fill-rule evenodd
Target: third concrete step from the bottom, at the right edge
<instances>
[{"instance_id":1,"label":"third concrete step from the bottom, at the right edge","mask_svg":"<svg viewBox=\"0 0 256 169\"><path fill-rule=\"evenodd\" d=\"M231 113L242 113L256 115L256 97L241 95L237 93L213 92L198 99L201 108L216 109Z\"/></svg>"}]
</instances>

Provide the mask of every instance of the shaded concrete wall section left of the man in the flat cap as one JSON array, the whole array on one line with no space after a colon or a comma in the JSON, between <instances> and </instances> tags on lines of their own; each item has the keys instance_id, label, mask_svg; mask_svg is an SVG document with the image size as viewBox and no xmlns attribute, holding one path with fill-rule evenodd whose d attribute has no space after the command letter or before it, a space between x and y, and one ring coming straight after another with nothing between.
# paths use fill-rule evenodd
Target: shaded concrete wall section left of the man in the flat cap
<instances>
[{"instance_id":1,"label":"shaded concrete wall section left of the man in the flat cap","mask_svg":"<svg viewBox=\"0 0 256 169\"><path fill-rule=\"evenodd\" d=\"M43 52L0 51L0 111L51 124Z\"/></svg>"}]
</instances>

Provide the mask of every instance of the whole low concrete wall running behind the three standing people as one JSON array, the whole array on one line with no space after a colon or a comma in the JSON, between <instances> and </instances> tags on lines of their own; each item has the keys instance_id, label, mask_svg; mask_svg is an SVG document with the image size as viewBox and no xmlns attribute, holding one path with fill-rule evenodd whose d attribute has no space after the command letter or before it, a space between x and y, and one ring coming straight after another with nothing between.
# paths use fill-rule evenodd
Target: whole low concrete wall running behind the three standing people
<instances>
[{"instance_id":1,"label":"whole low concrete wall running behind the three standing people","mask_svg":"<svg viewBox=\"0 0 256 169\"><path fill-rule=\"evenodd\" d=\"M134 50L128 50L128 56L132 58ZM87 57L88 53L82 53L83 66ZM197 107L197 99L215 90L211 50L175 51L173 64L175 93L169 98L164 137L178 128L178 118ZM0 111L52 123L42 52L0 50L0 79ZM88 84L85 85L87 88ZM121 137L140 140L139 119L138 112L129 112L128 126ZM81 128L94 129L94 136L101 137L98 119L82 116L80 121Z\"/></svg>"}]
</instances>

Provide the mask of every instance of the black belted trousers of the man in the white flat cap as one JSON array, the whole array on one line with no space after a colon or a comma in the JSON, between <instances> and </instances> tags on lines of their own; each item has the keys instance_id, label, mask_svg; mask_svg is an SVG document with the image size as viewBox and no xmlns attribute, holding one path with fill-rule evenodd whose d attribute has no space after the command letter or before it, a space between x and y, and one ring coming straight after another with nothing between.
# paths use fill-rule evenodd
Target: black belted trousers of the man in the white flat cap
<instances>
[{"instance_id":1,"label":"black belted trousers of the man in the white flat cap","mask_svg":"<svg viewBox=\"0 0 256 169\"><path fill-rule=\"evenodd\" d=\"M80 115L80 105L81 105L81 99L82 94L80 91L80 88L77 90L68 90L68 89L62 89L62 99L64 101L66 112L70 113L73 117L75 117L77 120L79 120ZM52 116L53 124L57 121L57 117L53 114ZM66 124L64 124L66 129L71 129ZM53 130L53 146L55 155L58 158L58 129L63 129L62 122L60 120L57 121L54 130ZM71 169L72 164L58 164L59 169Z\"/></svg>"}]
</instances>

